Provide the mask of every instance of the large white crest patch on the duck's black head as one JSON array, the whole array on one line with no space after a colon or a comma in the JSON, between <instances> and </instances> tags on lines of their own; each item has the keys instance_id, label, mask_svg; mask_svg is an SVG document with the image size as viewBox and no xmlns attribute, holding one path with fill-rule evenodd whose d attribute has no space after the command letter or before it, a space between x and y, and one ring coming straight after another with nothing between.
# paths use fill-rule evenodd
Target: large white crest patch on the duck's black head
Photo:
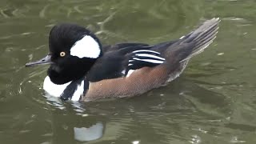
<instances>
[{"instance_id":1,"label":"large white crest patch on the duck's black head","mask_svg":"<svg viewBox=\"0 0 256 144\"><path fill-rule=\"evenodd\" d=\"M94 38L85 35L74 43L74 46L70 49L70 54L78 58L98 58L99 54L101 54L101 49Z\"/></svg>"}]
</instances>

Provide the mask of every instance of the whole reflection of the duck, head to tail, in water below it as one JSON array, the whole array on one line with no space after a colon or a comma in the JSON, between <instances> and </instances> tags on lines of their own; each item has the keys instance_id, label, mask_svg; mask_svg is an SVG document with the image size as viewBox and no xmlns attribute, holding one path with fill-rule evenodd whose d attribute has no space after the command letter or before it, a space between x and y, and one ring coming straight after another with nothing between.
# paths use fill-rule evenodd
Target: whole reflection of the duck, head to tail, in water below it
<instances>
[{"instance_id":1,"label":"whole reflection of the duck, head to tail, in water below it","mask_svg":"<svg viewBox=\"0 0 256 144\"><path fill-rule=\"evenodd\" d=\"M87 103L64 102L62 106L53 104L56 108L52 112L54 142L64 142L62 138L65 138L68 142L147 143L161 140L168 143L175 138L200 143L208 134L220 134L212 126L222 124L222 116L229 111L228 108L215 109L226 106L223 95L184 78L173 82L171 89L168 87L153 90L138 98ZM197 91L202 91L202 94ZM222 104L219 105L218 102ZM60 110L60 107L65 108ZM184 134L187 134L187 138L184 138ZM149 138L147 135L154 137Z\"/></svg>"}]
</instances>

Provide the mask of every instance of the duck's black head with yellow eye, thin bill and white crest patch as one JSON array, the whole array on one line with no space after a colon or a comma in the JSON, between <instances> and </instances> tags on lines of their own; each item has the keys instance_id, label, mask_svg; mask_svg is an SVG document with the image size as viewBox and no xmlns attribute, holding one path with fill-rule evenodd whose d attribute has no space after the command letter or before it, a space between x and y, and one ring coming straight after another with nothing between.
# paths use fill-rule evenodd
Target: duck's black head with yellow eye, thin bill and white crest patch
<instances>
[{"instance_id":1,"label":"duck's black head with yellow eye, thin bill and white crest patch","mask_svg":"<svg viewBox=\"0 0 256 144\"><path fill-rule=\"evenodd\" d=\"M50 30L49 54L26 66L50 63L47 74L51 82L63 84L85 76L101 55L102 45L90 30L66 23Z\"/></svg>"}]
</instances>

